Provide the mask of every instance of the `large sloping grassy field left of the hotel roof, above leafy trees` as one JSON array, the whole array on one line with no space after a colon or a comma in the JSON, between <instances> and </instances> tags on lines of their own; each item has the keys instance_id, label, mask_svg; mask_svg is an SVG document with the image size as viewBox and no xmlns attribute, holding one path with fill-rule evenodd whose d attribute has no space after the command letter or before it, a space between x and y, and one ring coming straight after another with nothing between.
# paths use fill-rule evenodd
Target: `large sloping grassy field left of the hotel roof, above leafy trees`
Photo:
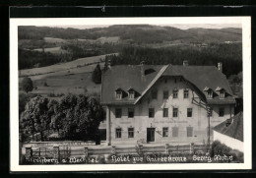
<instances>
[{"instance_id":1,"label":"large sloping grassy field left of the hotel roof, above leafy trees","mask_svg":"<svg viewBox=\"0 0 256 178\"><path fill-rule=\"evenodd\" d=\"M97 93L100 92L100 85L92 82L92 72L96 68L96 64L82 66L81 64L88 64L104 59L105 55L82 58L70 63L58 64L48 66L45 68L33 68L30 74L36 74L40 71L41 75L32 75L30 78L33 82L32 93L41 94L43 96L52 97L55 95L59 97L60 94L67 93ZM99 63L101 69L104 62ZM81 66L79 66L81 65ZM58 67L58 68L57 68ZM24 71L24 70L23 70ZM24 73L22 73L24 74ZM24 77L19 78L19 84L22 83ZM22 91L23 92L23 91Z\"/></svg>"}]
</instances>

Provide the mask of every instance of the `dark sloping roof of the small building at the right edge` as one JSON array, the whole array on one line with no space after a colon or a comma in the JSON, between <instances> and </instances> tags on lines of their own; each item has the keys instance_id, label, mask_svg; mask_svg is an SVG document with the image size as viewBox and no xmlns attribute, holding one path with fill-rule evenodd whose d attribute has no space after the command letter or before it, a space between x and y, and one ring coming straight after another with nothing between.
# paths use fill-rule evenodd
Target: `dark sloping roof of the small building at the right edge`
<instances>
[{"instance_id":1,"label":"dark sloping roof of the small building at the right edge","mask_svg":"<svg viewBox=\"0 0 256 178\"><path fill-rule=\"evenodd\" d=\"M214 127L214 130L225 136L243 142L243 114L239 112L232 118Z\"/></svg>"}]
</instances>

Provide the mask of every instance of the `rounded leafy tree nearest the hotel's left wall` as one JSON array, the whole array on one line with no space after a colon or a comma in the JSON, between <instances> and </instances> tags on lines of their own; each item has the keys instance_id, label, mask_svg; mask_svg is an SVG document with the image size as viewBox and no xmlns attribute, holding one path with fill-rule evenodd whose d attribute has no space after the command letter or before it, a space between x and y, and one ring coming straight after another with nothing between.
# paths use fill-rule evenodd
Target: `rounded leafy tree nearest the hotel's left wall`
<instances>
[{"instance_id":1,"label":"rounded leafy tree nearest the hotel's left wall","mask_svg":"<svg viewBox=\"0 0 256 178\"><path fill-rule=\"evenodd\" d=\"M96 97L68 94L59 104L63 114L64 136L71 140L95 140L104 111Z\"/></svg>"}]
</instances>

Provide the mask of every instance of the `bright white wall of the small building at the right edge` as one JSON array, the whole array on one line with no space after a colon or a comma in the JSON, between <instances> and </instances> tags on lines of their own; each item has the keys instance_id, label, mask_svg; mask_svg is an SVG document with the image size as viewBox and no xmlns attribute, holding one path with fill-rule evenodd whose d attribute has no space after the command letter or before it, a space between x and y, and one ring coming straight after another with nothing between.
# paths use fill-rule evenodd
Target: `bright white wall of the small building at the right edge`
<instances>
[{"instance_id":1,"label":"bright white wall of the small building at the right edge","mask_svg":"<svg viewBox=\"0 0 256 178\"><path fill-rule=\"evenodd\" d=\"M217 131L214 131L214 141L220 141L222 144L229 148L237 149L243 152L243 142L225 136Z\"/></svg>"}]
</instances>

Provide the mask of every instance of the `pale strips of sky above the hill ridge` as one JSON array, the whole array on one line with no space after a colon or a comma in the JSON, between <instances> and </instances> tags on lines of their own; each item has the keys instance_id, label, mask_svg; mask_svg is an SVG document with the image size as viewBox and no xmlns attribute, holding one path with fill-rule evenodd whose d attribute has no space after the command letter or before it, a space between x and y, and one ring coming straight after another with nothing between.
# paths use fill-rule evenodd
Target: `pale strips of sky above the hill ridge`
<instances>
[{"instance_id":1,"label":"pale strips of sky above the hill ridge","mask_svg":"<svg viewBox=\"0 0 256 178\"><path fill-rule=\"evenodd\" d=\"M171 24L171 25L157 25L152 24L154 26L169 26L173 28L178 28L181 30L187 30L192 28L204 28L204 29L224 29L224 28L239 28L241 29L240 24ZM74 29L93 29L93 28L106 28L109 25L86 25L86 26L53 26L54 28L74 28Z\"/></svg>"}]
</instances>

